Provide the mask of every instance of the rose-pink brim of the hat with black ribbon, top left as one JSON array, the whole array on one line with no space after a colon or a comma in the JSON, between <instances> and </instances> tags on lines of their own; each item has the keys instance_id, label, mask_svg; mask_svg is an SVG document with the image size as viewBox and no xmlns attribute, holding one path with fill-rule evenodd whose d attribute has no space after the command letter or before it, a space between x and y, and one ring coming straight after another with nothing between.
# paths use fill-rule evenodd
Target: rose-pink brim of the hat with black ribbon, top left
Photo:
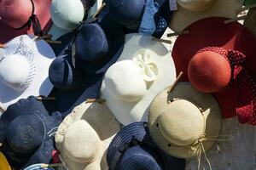
<instances>
[{"instance_id":1,"label":"rose-pink brim of the hat with black ribbon, top left","mask_svg":"<svg viewBox=\"0 0 256 170\"><path fill-rule=\"evenodd\" d=\"M44 34L47 33L49 27L52 25L52 21L50 20L49 7L51 4L51 0L33 0L35 4L35 14L37 14L38 20L40 22L40 26ZM6 26L3 21L0 20L0 43L8 42L9 40L18 37L23 34L34 34L32 26L26 27L22 30L15 30L9 26Z\"/></svg>"}]
</instances>

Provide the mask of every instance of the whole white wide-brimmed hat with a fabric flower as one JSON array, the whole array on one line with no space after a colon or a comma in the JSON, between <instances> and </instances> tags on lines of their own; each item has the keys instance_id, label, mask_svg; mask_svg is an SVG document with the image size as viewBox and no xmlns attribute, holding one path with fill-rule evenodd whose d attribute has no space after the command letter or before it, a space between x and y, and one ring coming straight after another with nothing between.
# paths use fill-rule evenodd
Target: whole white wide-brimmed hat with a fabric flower
<instances>
[{"instance_id":1,"label":"whole white wide-brimmed hat with a fabric flower","mask_svg":"<svg viewBox=\"0 0 256 170\"><path fill-rule=\"evenodd\" d=\"M152 99L175 79L170 51L161 42L127 34L119 60L105 74L101 97L120 123L147 122Z\"/></svg>"}]
</instances>

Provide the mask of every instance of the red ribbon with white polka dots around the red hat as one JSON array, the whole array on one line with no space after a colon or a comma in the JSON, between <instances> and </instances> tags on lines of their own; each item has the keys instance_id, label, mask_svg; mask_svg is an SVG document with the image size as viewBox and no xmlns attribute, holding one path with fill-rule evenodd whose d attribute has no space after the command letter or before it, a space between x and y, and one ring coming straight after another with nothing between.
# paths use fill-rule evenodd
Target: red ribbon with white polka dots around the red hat
<instances>
[{"instance_id":1,"label":"red ribbon with white polka dots around the red hat","mask_svg":"<svg viewBox=\"0 0 256 170\"><path fill-rule=\"evenodd\" d=\"M236 87L236 115L239 122L250 123L255 126L256 84L253 77L241 66L246 56L236 50L226 50L218 47L202 48L198 53L204 51L212 51L229 60L232 71L230 85Z\"/></svg>"}]
</instances>

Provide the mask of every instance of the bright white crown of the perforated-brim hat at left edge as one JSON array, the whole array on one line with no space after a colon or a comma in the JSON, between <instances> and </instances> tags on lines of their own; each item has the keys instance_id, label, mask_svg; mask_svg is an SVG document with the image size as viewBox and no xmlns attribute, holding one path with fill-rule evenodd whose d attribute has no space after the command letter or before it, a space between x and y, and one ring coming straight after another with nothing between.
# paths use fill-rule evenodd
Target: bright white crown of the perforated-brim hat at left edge
<instances>
[{"instance_id":1,"label":"bright white crown of the perforated-brim hat at left edge","mask_svg":"<svg viewBox=\"0 0 256 170\"><path fill-rule=\"evenodd\" d=\"M0 78L10 88L20 88L29 76L30 64L20 54L10 54L0 61Z\"/></svg>"}]
</instances>

